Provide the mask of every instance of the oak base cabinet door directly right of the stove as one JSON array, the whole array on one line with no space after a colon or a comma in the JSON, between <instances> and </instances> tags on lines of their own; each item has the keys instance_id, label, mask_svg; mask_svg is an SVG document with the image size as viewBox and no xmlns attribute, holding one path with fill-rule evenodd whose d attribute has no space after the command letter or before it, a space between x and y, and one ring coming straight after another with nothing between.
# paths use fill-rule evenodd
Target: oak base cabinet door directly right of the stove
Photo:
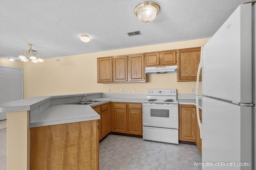
<instances>
[{"instance_id":1,"label":"oak base cabinet door directly right of the stove","mask_svg":"<svg viewBox=\"0 0 256 170\"><path fill-rule=\"evenodd\" d=\"M194 114L195 107L191 105L179 106L179 140L194 142Z\"/></svg>"}]
</instances>

